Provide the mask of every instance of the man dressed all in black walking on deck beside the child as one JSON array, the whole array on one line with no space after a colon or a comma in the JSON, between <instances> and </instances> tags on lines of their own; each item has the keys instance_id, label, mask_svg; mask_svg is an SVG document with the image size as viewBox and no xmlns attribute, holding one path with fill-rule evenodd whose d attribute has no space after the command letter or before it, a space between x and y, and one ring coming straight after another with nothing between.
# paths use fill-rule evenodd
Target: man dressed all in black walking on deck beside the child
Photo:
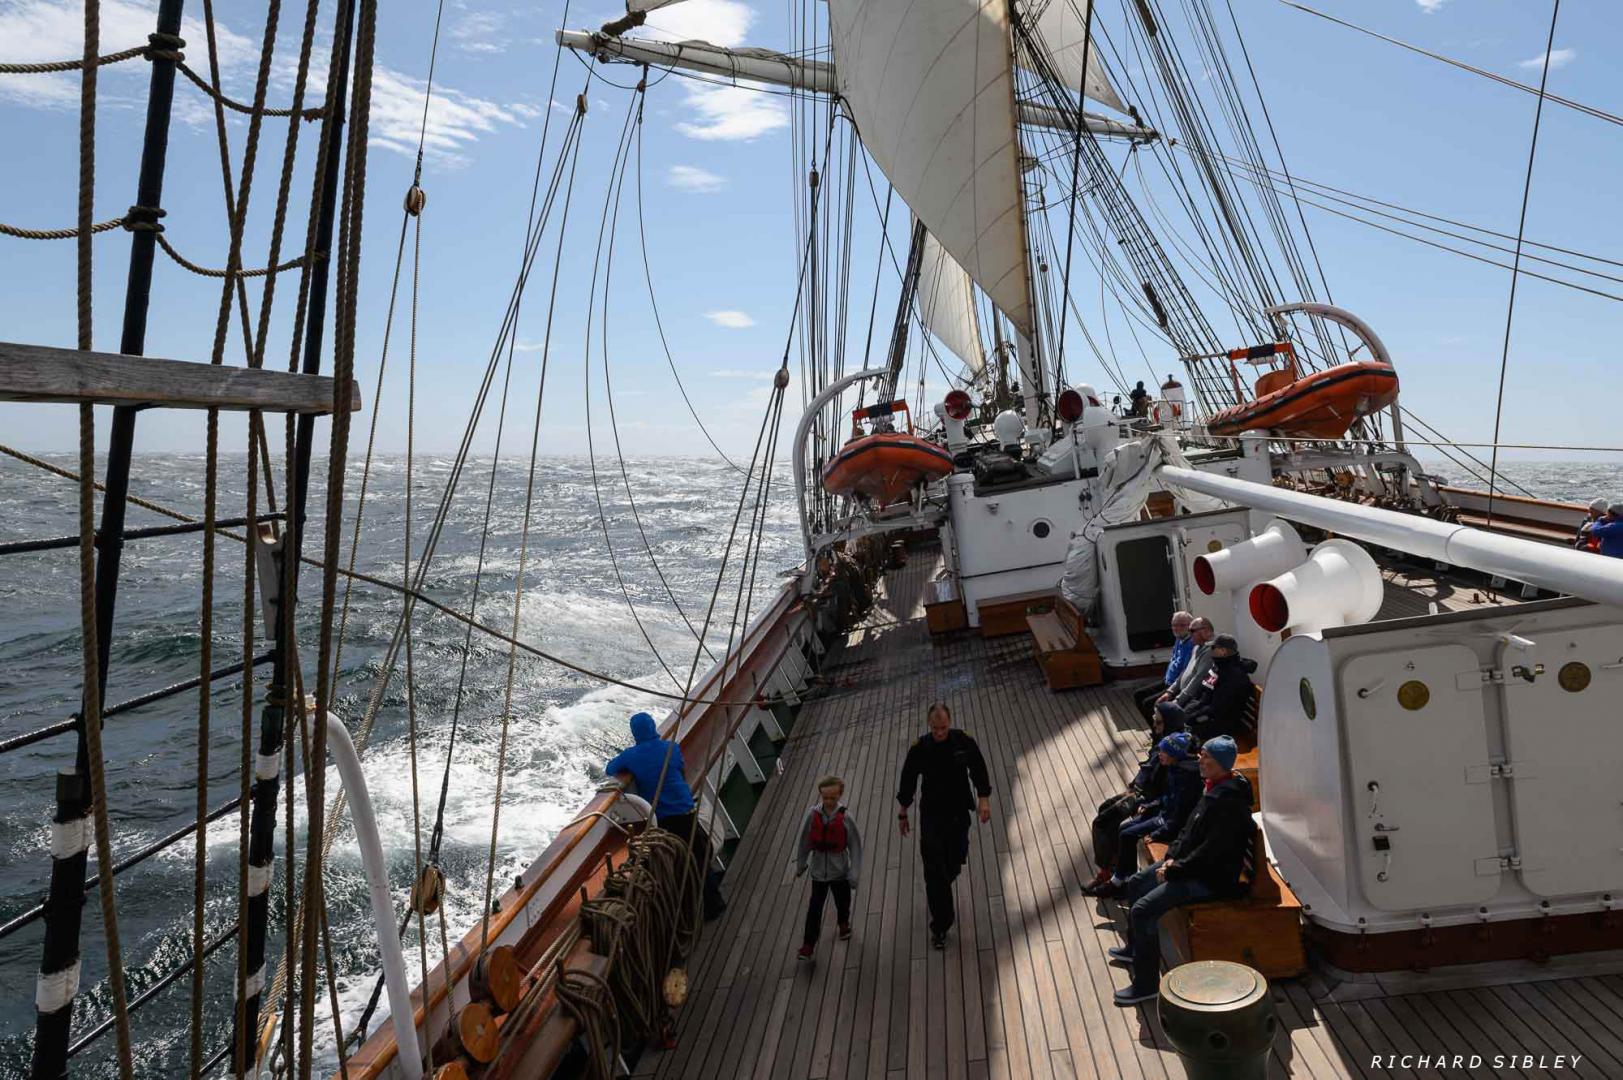
<instances>
[{"instance_id":1,"label":"man dressed all in black walking on deck beside the child","mask_svg":"<svg viewBox=\"0 0 1623 1080\"><path fill-rule=\"evenodd\" d=\"M992 820L992 776L975 741L967 731L953 728L953 713L946 705L936 702L927 718L930 731L919 736L902 762L896 825L902 836L911 832L907 809L922 776L919 856L923 861L923 895L930 905L930 947L946 948L946 932L956 921L953 882L969 858L969 814L974 810L982 825Z\"/></svg>"}]
</instances>

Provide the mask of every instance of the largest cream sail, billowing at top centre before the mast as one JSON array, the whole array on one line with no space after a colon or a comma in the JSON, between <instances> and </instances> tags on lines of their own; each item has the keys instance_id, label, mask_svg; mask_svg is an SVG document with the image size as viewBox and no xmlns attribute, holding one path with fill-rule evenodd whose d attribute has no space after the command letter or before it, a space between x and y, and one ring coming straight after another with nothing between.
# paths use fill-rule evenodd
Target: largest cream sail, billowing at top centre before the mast
<instances>
[{"instance_id":1,"label":"largest cream sail, billowing at top centre before the mast","mask_svg":"<svg viewBox=\"0 0 1623 1080\"><path fill-rule=\"evenodd\" d=\"M862 143L975 284L1031 333L1006 0L829 0Z\"/></svg>"}]
</instances>

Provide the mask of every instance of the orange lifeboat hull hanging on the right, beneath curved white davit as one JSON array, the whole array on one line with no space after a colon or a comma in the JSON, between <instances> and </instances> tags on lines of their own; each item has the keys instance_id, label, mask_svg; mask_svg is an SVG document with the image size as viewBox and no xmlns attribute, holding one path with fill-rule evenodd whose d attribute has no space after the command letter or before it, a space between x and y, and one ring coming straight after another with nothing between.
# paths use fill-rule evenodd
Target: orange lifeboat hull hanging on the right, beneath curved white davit
<instances>
[{"instance_id":1,"label":"orange lifeboat hull hanging on the right, beneath curved white davit","mask_svg":"<svg viewBox=\"0 0 1623 1080\"><path fill-rule=\"evenodd\" d=\"M1212 416L1212 435L1271 430L1297 438L1341 438L1355 421L1397 400L1397 372L1380 361L1354 361L1313 372L1255 401Z\"/></svg>"}]
</instances>

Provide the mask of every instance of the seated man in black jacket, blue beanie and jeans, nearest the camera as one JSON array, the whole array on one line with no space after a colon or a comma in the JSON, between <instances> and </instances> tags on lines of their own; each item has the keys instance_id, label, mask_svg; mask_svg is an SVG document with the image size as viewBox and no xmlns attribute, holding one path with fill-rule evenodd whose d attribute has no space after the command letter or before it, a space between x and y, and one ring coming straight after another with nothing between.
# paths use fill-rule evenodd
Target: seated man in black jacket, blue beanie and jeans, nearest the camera
<instances>
[{"instance_id":1,"label":"seated man in black jacket, blue beanie and jeans, nearest the camera","mask_svg":"<svg viewBox=\"0 0 1623 1080\"><path fill-rule=\"evenodd\" d=\"M1183 905L1222 900L1245 892L1240 879L1251 851L1251 784L1233 771L1238 749L1229 736L1201 747L1201 794L1167 858L1128 879L1126 945L1110 958L1130 965L1133 983L1115 992L1123 1009L1156 997L1160 974L1160 916Z\"/></svg>"}]
</instances>

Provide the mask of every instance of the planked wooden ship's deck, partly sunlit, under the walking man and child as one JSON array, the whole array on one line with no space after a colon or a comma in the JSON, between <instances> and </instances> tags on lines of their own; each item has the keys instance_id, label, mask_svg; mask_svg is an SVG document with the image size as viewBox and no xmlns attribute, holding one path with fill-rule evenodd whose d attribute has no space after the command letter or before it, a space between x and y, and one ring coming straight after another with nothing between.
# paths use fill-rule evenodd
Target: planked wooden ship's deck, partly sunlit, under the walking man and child
<instances>
[{"instance_id":1,"label":"planked wooden ship's deck, partly sunlit, under the walking man and child","mask_svg":"<svg viewBox=\"0 0 1623 1080\"><path fill-rule=\"evenodd\" d=\"M1112 1005L1126 973L1105 963L1105 948L1120 942L1123 913L1079 892L1092 877L1094 806L1143 745L1126 690L1048 692L1026 637L932 642L922 614L932 555L914 552L888 575L868 625L829 654L823 674L834 685L802 710L729 869L727 914L691 961L677 1048L646 1054L636 1075L1185 1075L1152 1007ZM1425 601L1414 614L1423 611ZM936 698L979 739L993 783L992 823L972 832L945 952L927 944L917 840L894 825L902 754ZM828 911L816 960L802 963L808 883L794 877L794 833L828 771L849 784L867 853L855 935L836 940ZM1558 1075L1623 1075L1623 976L1358 991L1360 1000L1321 1004L1305 983L1276 983L1271 1072L1543 1077L1565 1054ZM1482 1064L1386 1067L1391 1054L1461 1054L1462 1064L1477 1054ZM1516 1057L1495 1069L1495 1054ZM1576 1069L1573 1054L1582 1056Z\"/></svg>"}]
</instances>

